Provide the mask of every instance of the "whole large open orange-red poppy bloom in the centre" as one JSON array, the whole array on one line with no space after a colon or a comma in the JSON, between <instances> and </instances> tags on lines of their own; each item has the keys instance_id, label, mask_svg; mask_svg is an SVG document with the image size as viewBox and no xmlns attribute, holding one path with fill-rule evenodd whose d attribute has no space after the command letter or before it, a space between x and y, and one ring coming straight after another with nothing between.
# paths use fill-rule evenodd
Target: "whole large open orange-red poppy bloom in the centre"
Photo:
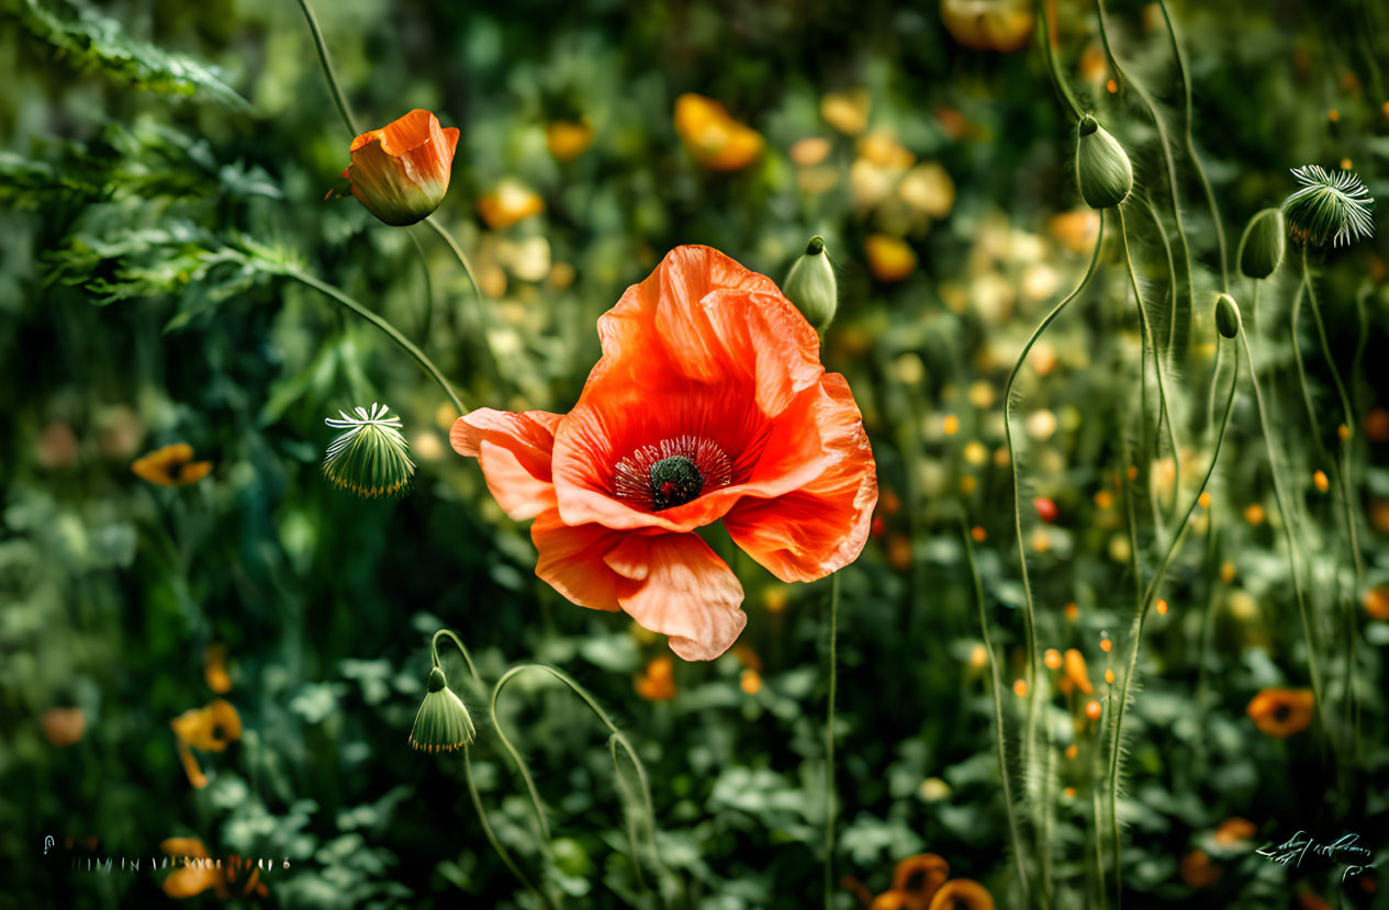
<instances>
[{"instance_id":1,"label":"whole large open orange-red poppy bloom in the centre","mask_svg":"<svg viewBox=\"0 0 1389 910\"><path fill-rule=\"evenodd\" d=\"M722 520L782 581L851 563L878 502L863 417L776 285L708 247L667 254L599 338L572 411L481 408L454 422L453 447L511 518L535 518L536 575L711 660L747 617L696 529Z\"/></svg>"}]
</instances>

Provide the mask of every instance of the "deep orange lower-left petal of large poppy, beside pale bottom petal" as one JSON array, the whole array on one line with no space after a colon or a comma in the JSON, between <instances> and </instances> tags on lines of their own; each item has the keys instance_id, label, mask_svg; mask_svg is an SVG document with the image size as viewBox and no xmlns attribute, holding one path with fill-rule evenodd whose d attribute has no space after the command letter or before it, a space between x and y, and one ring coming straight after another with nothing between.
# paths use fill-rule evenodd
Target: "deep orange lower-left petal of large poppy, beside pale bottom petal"
<instances>
[{"instance_id":1,"label":"deep orange lower-left petal of large poppy, beside pale bottom petal","mask_svg":"<svg viewBox=\"0 0 1389 910\"><path fill-rule=\"evenodd\" d=\"M535 574L561 595L593 610L619 610L618 592L629 585L603 557L622 535L601 525L567 525L556 508L540 513L531 540L540 552Z\"/></svg>"}]
</instances>

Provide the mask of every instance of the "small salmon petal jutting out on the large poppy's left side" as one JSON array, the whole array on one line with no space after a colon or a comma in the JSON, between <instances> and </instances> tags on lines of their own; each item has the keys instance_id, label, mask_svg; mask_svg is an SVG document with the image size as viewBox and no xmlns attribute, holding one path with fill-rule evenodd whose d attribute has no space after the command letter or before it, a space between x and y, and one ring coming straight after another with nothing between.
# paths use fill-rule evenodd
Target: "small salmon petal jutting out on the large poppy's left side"
<instances>
[{"instance_id":1,"label":"small salmon petal jutting out on the large poppy's left side","mask_svg":"<svg viewBox=\"0 0 1389 910\"><path fill-rule=\"evenodd\" d=\"M550 457L558 414L478 408L454 421L454 452L478 460L488 489L513 521L535 518L554 506Z\"/></svg>"}]
</instances>

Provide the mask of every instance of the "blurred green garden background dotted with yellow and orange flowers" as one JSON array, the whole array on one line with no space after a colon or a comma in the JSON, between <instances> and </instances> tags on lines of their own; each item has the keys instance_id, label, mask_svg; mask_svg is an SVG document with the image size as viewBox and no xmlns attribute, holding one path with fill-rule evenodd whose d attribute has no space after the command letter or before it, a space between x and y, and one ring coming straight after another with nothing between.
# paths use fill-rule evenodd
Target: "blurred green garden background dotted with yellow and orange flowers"
<instances>
[{"instance_id":1,"label":"blurred green garden background dotted with yellow and orange flowers","mask_svg":"<svg viewBox=\"0 0 1389 910\"><path fill-rule=\"evenodd\" d=\"M1078 208L1074 122L1031 4L995 4L1017 8L988 32L953 18L960 6L321 3L364 129L422 107L463 132L435 218L472 258L479 324L439 236L324 199L350 136L297 4L3 0L0 904L536 906L483 838L458 754L407 747L440 627L468 642L489 682L518 661L553 663L624 727L651 774L676 882L667 896L820 902L828 582L788 586L739 560L750 617L739 646L711 664L664 663L663 640L533 578L525 527L449 449L456 414L438 388L371 325L285 278L301 270L385 315L468 407L564 411L597 357L594 320L669 247L707 243L779 281L820 233L840 286L824 360L849 377L883 490L842 582L836 900L886 892L896 863L931 852L999 906L1021 906L957 514L976 542L1015 742L1022 590L1003 382L1079 281L1097 218ZM1160 235L1145 206L1128 211L1139 286L1163 313L1185 285L1164 254L1175 233L1153 124L1111 82L1093 4L1049 8L1070 86L1129 149L1167 220ZM1107 8L1115 53L1179 135L1160 11ZM1265 282L1256 317L1233 251L1247 218L1293 189L1290 167L1354 168L1372 196L1389 193L1389 14L1353 0L1176 1L1172 13L1231 292L1261 332L1326 707L1350 720L1332 750L1314 728L1260 732L1250 709L1260 690L1308 679L1245 375L1125 720L1125 906L1382 904L1389 885L1374 872L1342 882L1342 864L1290 868L1253 847L1308 829L1358 834L1378 861L1389 852L1383 231L1314 257L1353 403L1358 572L1338 490L1315 478L1333 467L1324 453L1340 452L1343 420L1314 326L1304 314L1289 328L1300 264L1290 254ZM703 113L732 136L726 147L682 138L685 93L726 108L729 124ZM1190 357L1171 374L1190 447L1185 503L1211 454L1222 282L1211 211L1174 146L1196 299ZM1106 226L1097 278L1033 349L1013 415L1039 645L1083 654L1107 711L1104 670L1131 647L1133 567L1150 574L1165 540L1151 522L1128 531L1139 336ZM1228 365L1220 377L1222 400ZM418 463L397 502L358 500L319 477L333 435L322 420L371 402L404 418ZM171 443L208 461L207 477L161 486L132 471ZM1171 495L1168 465L1136 471L1140 517ZM503 721L550 810L543 845L486 692L444 660L479 725L481 796L529 875L575 906L653 902L626 856L601 728L539 675L508 689ZM1113 857L1096 863L1104 728L1083 709L1078 695L1047 703L1060 732L1043 841L1058 907L1097 903L1101 870L1114 888ZM194 849L169 838L275 867L254 879L151 871L165 847ZM1029 827L1024 841L1035 846ZM88 857L144 866L75 871Z\"/></svg>"}]
</instances>

